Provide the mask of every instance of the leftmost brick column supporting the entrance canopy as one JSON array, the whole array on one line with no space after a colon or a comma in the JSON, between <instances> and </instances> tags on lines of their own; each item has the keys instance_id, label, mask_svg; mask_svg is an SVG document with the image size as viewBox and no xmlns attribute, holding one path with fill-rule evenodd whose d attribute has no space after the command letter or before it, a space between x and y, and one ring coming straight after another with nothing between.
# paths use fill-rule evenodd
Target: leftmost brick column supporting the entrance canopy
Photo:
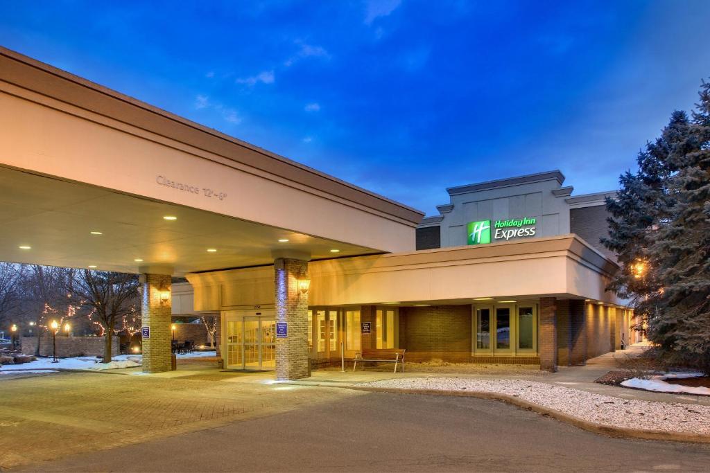
<instances>
[{"instance_id":1,"label":"leftmost brick column supporting the entrance canopy","mask_svg":"<svg viewBox=\"0 0 710 473\"><path fill-rule=\"evenodd\" d=\"M170 297L160 300L160 291L170 291L170 276L141 274L143 284L141 325L148 327L150 335L143 338L143 372L170 371ZM145 334L144 334L145 335Z\"/></svg>"}]
</instances>

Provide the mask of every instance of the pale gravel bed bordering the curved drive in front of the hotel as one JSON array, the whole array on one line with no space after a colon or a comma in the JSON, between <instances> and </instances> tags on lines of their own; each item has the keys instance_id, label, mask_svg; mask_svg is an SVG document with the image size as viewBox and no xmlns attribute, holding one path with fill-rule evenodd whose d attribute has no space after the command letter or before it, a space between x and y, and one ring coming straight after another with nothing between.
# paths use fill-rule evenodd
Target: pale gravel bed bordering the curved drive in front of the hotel
<instances>
[{"instance_id":1,"label":"pale gravel bed bordering the curved drive in front of the hotel","mask_svg":"<svg viewBox=\"0 0 710 473\"><path fill-rule=\"evenodd\" d=\"M520 379L405 378L366 386L495 392L555 409L582 421L618 428L710 434L710 406L619 399Z\"/></svg>"}]
</instances>

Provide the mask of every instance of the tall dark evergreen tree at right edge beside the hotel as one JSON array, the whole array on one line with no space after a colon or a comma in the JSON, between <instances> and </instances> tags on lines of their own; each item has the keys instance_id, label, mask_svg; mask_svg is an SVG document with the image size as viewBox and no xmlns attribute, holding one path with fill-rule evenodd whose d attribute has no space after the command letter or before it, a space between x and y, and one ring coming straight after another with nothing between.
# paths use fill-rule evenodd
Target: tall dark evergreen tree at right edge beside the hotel
<instances>
[{"instance_id":1,"label":"tall dark evergreen tree at right edge beside the hotel","mask_svg":"<svg viewBox=\"0 0 710 473\"><path fill-rule=\"evenodd\" d=\"M610 289L632 301L662 355L710 371L710 84L692 119L672 113L638 167L607 201L603 243L621 265Z\"/></svg>"}]
</instances>

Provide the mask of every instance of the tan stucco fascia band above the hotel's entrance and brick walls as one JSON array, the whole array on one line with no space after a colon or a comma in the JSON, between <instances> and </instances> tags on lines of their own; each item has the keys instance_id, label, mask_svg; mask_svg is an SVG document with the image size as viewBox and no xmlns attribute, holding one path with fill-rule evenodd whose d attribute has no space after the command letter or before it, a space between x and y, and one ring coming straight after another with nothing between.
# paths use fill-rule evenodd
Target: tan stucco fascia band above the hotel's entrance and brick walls
<instances>
[{"instance_id":1,"label":"tan stucco fascia band above the hotel's entrance and brick walls","mask_svg":"<svg viewBox=\"0 0 710 473\"><path fill-rule=\"evenodd\" d=\"M584 244L582 244L584 246ZM617 303L574 235L310 262L310 306L475 297L581 296ZM606 262L603 257L601 262ZM596 268L596 269L595 269ZM188 274L196 310L273 304L273 267ZM608 337L607 337L608 340Z\"/></svg>"}]
</instances>

